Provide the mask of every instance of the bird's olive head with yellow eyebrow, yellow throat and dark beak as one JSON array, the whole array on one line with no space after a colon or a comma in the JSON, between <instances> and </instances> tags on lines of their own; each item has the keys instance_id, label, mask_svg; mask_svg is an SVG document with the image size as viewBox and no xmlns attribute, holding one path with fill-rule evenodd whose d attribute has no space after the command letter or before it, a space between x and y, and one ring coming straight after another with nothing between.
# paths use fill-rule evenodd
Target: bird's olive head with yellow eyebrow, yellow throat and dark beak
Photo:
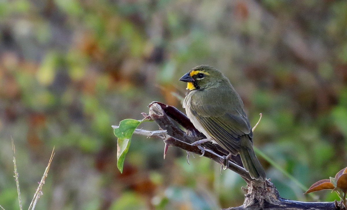
<instances>
[{"instance_id":1,"label":"bird's olive head with yellow eyebrow, yellow throat and dark beak","mask_svg":"<svg viewBox=\"0 0 347 210\"><path fill-rule=\"evenodd\" d=\"M208 65L193 68L179 80L187 82L187 90L209 89L219 86L221 81L228 81L219 70Z\"/></svg>"}]
</instances>

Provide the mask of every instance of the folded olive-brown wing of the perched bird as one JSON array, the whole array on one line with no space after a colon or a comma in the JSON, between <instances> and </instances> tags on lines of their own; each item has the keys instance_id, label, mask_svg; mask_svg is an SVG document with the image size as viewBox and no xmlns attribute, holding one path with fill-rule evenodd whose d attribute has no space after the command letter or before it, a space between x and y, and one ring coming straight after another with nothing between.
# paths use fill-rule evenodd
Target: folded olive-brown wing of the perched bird
<instances>
[{"instance_id":1,"label":"folded olive-brown wing of the perched bird","mask_svg":"<svg viewBox=\"0 0 347 210\"><path fill-rule=\"evenodd\" d=\"M199 106L192 103L192 114L204 130L225 149L236 153L240 136L248 134L252 138L252 129L246 114L222 106Z\"/></svg>"}]
</instances>

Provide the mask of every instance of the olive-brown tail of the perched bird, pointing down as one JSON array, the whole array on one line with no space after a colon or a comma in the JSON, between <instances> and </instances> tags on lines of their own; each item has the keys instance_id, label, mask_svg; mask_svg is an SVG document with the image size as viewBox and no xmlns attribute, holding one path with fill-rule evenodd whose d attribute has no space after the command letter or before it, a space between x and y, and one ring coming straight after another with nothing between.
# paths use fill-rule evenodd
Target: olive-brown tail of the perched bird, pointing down
<instances>
[{"instance_id":1,"label":"olive-brown tail of the perched bird, pointing down","mask_svg":"<svg viewBox=\"0 0 347 210\"><path fill-rule=\"evenodd\" d=\"M247 145L242 145L239 154L242 164L251 178L255 180L265 180L266 174L258 158L254 154L251 141L247 140Z\"/></svg>"}]
</instances>

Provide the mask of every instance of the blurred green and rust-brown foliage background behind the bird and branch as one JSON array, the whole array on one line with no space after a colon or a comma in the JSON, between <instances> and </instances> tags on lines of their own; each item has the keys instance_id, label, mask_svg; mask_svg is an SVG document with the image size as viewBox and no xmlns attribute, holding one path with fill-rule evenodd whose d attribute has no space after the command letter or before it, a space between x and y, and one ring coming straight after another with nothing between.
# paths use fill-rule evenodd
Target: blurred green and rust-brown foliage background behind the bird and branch
<instances>
[{"instance_id":1,"label":"blurred green and rust-brown foliage background behind the bird and branch","mask_svg":"<svg viewBox=\"0 0 347 210\"><path fill-rule=\"evenodd\" d=\"M55 147L36 209L209 210L243 203L245 182L208 158L133 136L116 167L111 125L158 100L181 108L178 79L200 64L242 97L254 145L309 187L347 166L347 2L333 0L0 1L0 205L24 208ZM141 128L156 130L155 123ZM258 155L258 157L260 157ZM303 195L260 157L283 198Z\"/></svg>"}]
</instances>

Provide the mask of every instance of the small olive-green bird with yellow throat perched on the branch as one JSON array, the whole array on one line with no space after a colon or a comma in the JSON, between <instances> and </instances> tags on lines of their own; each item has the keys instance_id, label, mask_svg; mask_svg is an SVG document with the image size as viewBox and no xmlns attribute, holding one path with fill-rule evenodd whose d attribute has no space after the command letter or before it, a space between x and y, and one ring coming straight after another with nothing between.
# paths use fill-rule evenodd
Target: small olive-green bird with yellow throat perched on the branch
<instances>
[{"instance_id":1,"label":"small olive-green bird with yellow throat perched on the branch","mask_svg":"<svg viewBox=\"0 0 347 210\"><path fill-rule=\"evenodd\" d=\"M240 154L244 168L256 180L265 172L253 150L253 133L243 102L230 81L219 70L199 65L183 75L188 93L183 100L188 118L208 140L230 152Z\"/></svg>"}]
</instances>

